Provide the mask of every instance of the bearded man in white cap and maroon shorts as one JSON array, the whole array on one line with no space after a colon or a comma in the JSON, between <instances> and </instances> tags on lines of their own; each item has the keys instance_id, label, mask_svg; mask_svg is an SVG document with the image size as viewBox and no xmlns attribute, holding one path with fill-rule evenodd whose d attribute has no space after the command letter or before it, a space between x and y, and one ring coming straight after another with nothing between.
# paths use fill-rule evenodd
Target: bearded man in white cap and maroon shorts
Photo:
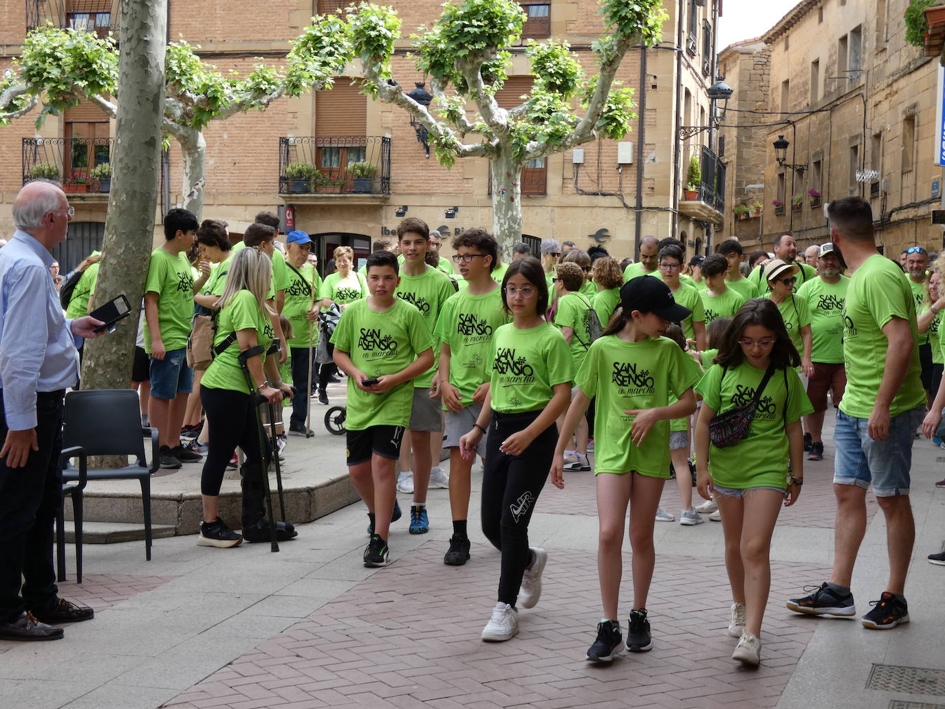
<instances>
[{"instance_id":1,"label":"bearded man in white cap and maroon shorts","mask_svg":"<svg viewBox=\"0 0 945 709\"><path fill-rule=\"evenodd\" d=\"M828 242L818 250L820 275L801 285L797 293L810 308L814 340L811 348L814 373L807 381L807 396L814 405L814 413L804 417L807 429L804 438L808 439L804 443L810 450L808 460L820 460L824 456L820 433L827 412L827 392L833 393L833 408L836 408L847 386L847 372L843 367L843 305L847 302L850 279L840 275L840 261L833 244Z\"/></svg>"}]
</instances>

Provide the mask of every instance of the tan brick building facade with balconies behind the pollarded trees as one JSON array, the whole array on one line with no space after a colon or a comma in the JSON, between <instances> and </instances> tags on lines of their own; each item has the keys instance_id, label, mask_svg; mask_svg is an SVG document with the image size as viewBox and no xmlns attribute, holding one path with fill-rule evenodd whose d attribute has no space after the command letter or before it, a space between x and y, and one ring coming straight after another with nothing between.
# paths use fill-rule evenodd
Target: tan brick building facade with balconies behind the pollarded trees
<instances>
[{"instance_id":1,"label":"tan brick building facade with balconies behind the pollarded trees","mask_svg":"<svg viewBox=\"0 0 945 709\"><path fill-rule=\"evenodd\" d=\"M168 36L198 44L198 54L221 72L245 72L257 57L278 64L308 19L332 11L340 0L257 0L252 12L220 0L169 2ZM590 45L604 27L595 0L523 0L529 21L526 37L567 40L593 71ZM54 23L73 22L94 31L114 25L113 0L10 0L0 6L0 70L19 53L31 17L41 7L58 8ZM395 0L404 34L431 24L441 11L440 0ZM707 125L706 89L714 71L714 25L719 0L665 0L670 17L662 42L627 55L618 78L636 89L639 117L622 141L600 140L530 165L523 174L525 234L581 248L605 246L613 255L635 255L639 239L679 235L693 249L706 252L712 233L724 228L721 195L703 196L680 205L691 154L701 160L708 135L681 142L680 126ZM92 6L95 6L94 8ZM81 11L80 11L81 10ZM58 14L56 14L58 12ZM260 22L260 18L266 18ZM522 42L524 45L524 40ZM405 87L423 81L405 56L409 40L398 45L394 76ZM676 51L679 47L681 51ZM513 66L500 104L510 107L530 86L524 46L512 47ZM360 95L350 66L331 92L313 92L273 103L266 112L237 114L215 121L204 131L207 182L202 216L219 217L239 233L260 210L291 207L296 228L317 236L320 262L337 245L350 245L359 257L374 238L392 232L400 217L419 216L431 227L458 233L466 227L491 224L489 164L482 159L458 160L453 169L424 157L409 116L400 109ZM91 106L79 106L50 117L42 130L33 126L35 113L0 129L0 232L9 233L12 199L28 169L59 151L66 174L83 174L108 160L113 121ZM26 143L25 143L26 139ZM84 142L83 142L84 141ZM626 144L626 145L621 145ZM369 192L355 192L348 164L378 165ZM316 164L322 176L312 192L293 191L287 164ZM705 170L703 170L705 172ZM172 143L163 181L160 216L180 202L180 149ZM77 261L100 243L107 195L92 182L88 193L71 194L77 207L70 247ZM710 199L712 198L712 199ZM458 210L453 218L447 213ZM156 228L156 239L161 233ZM449 253L448 240L445 253ZM533 242L534 243L534 242ZM68 267L68 263L64 266Z\"/></svg>"}]
</instances>

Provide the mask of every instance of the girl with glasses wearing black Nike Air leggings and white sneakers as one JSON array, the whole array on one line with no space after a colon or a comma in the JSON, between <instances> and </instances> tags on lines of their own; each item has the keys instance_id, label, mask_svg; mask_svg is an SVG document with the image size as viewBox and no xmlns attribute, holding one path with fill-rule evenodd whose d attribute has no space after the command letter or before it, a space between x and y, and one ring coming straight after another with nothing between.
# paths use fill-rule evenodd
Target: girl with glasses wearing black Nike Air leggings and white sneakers
<instances>
[{"instance_id":1,"label":"girl with glasses wearing black Nike Air leggings and white sneakers","mask_svg":"<svg viewBox=\"0 0 945 709\"><path fill-rule=\"evenodd\" d=\"M482 530L502 552L498 602L482 639L503 641L519 631L517 606L541 597L547 554L529 547L528 523L548 477L558 426L571 398L571 354L560 331L544 320L548 289L538 260L509 264L502 303L512 321L492 335L490 390L469 433L459 440L472 458L487 431L482 479Z\"/></svg>"}]
</instances>

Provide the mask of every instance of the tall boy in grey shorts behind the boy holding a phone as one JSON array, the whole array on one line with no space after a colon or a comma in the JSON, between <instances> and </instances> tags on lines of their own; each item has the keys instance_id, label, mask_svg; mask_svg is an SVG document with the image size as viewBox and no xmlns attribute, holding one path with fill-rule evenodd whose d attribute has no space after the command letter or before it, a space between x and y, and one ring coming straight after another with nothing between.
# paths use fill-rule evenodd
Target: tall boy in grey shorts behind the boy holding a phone
<instances>
[{"instance_id":1,"label":"tall boy in grey shorts behind the boy holding a phone","mask_svg":"<svg viewBox=\"0 0 945 709\"><path fill-rule=\"evenodd\" d=\"M440 308L456 291L449 276L426 263L429 241L430 229L422 219L408 216L397 227L397 243L404 256L397 297L417 307L432 335ZM426 512L427 488L431 482L438 488L447 488L450 484L449 478L439 467L435 475L431 474L434 458L431 446L438 453L443 441L443 415L436 401L439 395L436 356L430 369L418 376L413 384L413 407L408 426L410 435L407 438L408 445L402 446L401 475L397 480L397 489L402 493L413 493L410 533L423 534L430 529Z\"/></svg>"}]
</instances>

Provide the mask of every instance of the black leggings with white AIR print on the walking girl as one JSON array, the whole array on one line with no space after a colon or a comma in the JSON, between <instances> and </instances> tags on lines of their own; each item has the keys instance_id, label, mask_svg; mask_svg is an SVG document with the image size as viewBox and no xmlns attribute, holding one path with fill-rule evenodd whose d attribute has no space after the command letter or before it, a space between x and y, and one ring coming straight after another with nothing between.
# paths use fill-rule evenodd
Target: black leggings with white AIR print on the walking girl
<instances>
[{"instance_id":1,"label":"black leggings with white AIR print on the walking girl","mask_svg":"<svg viewBox=\"0 0 945 709\"><path fill-rule=\"evenodd\" d=\"M541 411L524 414L493 412L486 444L482 530L492 545L502 552L499 600L512 606L519 596L522 575L528 565L528 522L555 457L558 426L548 426L521 456L507 456L499 446L540 414Z\"/></svg>"}]
</instances>

